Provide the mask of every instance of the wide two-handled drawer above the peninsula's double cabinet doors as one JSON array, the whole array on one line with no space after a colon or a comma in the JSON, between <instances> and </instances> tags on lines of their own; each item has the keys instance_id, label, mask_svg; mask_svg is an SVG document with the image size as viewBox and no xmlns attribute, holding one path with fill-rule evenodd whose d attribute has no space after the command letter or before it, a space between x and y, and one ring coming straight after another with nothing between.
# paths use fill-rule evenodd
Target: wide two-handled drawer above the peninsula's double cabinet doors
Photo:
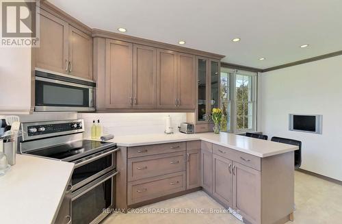
<instances>
[{"instance_id":1,"label":"wide two-handled drawer above the peninsula's double cabinet doors","mask_svg":"<svg viewBox=\"0 0 342 224\"><path fill-rule=\"evenodd\" d=\"M245 166L249 166L252 169L261 171L261 158L255 155L250 155L248 153L243 153L235 149L229 149L215 144L213 144L213 153L229 160L239 162L240 164L244 164Z\"/></svg>"}]
</instances>

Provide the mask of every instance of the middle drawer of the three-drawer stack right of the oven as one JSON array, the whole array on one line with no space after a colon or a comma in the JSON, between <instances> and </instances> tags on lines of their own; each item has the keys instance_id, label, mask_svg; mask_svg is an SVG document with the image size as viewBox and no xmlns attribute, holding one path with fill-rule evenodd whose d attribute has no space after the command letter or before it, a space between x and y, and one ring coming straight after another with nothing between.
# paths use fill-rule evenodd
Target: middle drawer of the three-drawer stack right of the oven
<instances>
[{"instance_id":1,"label":"middle drawer of the three-drawer stack right of the oven","mask_svg":"<svg viewBox=\"0 0 342 224\"><path fill-rule=\"evenodd\" d=\"M185 171L185 152L130 158L127 163L128 181Z\"/></svg>"}]
</instances>

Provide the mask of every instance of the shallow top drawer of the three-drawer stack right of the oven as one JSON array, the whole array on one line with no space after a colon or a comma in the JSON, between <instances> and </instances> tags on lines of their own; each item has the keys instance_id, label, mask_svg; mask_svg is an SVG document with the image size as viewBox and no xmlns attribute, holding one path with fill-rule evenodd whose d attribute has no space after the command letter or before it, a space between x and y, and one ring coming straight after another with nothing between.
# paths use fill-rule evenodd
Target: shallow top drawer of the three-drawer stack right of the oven
<instances>
[{"instance_id":1,"label":"shallow top drawer of the three-drawer stack right of the oven","mask_svg":"<svg viewBox=\"0 0 342 224\"><path fill-rule=\"evenodd\" d=\"M137 147L129 147L127 150L127 157L134 158L144 155L173 153L176 151L185 151L185 142L172 142L158 145L142 145Z\"/></svg>"}]
</instances>

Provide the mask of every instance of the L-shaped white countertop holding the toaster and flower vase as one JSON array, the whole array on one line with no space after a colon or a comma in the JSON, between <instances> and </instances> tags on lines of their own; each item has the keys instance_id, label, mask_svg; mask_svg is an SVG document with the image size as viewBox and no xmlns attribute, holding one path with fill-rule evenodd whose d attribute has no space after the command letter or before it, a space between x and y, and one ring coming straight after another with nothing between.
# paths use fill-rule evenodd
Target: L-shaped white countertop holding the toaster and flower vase
<instances>
[{"instance_id":1,"label":"L-shaped white countertop holding the toaster and flower vase","mask_svg":"<svg viewBox=\"0 0 342 224\"><path fill-rule=\"evenodd\" d=\"M271 155L295 151L297 146L287 145L269 140L248 138L229 133L201 133L201 134L141 134L132 136L116 136L111 142L116 142L118 146L134 147L140 145L154 145L168 142L182 142L189 140L205 140L213 144L222 145L244 153L264 158Z\"/></svg>"}]
</instances>

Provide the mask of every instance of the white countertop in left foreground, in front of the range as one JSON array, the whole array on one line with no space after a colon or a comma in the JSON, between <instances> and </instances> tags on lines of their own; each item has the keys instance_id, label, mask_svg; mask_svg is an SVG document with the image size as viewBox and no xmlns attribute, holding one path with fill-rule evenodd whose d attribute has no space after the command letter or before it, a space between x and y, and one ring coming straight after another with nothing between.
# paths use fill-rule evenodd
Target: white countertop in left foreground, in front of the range
<instances>
[{"instance_id":1,"label":"white countertop in left foreground, in front of the range","mask_svg":"<svg viewBox=\"0 0 342 224\"><path fill-rule=\"evenodd\" d=\"M16 164L0 177L0 223L52 223L73 167L17 154Z\"/></svg>"}]
</instances>

